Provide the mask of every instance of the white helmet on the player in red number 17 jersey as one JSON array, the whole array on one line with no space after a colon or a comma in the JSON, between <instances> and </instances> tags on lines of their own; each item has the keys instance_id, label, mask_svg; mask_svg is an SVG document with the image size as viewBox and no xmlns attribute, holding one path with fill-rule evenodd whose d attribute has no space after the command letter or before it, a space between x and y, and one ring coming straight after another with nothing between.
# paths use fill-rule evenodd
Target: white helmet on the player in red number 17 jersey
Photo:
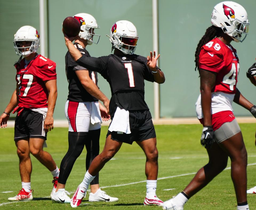
<instances>
[{"instance_id":1,"label":"white helmet on the player in red number 17 jersey","mask_svg":"<svg viewBox=\"0 0 256 210\"><path fill-rule=\"evenodd\" d=\"M30 55L31 53L35 53L40 46L39 41L39 33L38 31L32 26L22 26L16 34L14 34L14 48L17 55L22 55L24 57ZM31 42L29 47L21 47L19 42L21 41L28 41ZM22 49L29 48L28 51L23 51Z\"/></svg>"}]
</instances>

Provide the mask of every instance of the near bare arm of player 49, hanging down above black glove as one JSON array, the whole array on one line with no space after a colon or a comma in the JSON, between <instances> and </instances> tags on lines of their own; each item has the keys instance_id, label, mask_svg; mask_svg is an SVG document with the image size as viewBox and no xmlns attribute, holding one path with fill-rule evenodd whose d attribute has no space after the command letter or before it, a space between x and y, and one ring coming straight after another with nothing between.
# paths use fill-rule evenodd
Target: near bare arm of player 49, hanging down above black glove
<instances>
[{"instance_id":1,"label":"near bare arm of player 49, hanging down above black glove","mask_svg":"<svg viewBox=\"0 0 256 210\"><path fill-rule=\"evenodd\" d=\"M201 105L203 110L204 126L211 124L211 90L215 85L216 73L200 69Z\"/></svg>"}]
</instances>

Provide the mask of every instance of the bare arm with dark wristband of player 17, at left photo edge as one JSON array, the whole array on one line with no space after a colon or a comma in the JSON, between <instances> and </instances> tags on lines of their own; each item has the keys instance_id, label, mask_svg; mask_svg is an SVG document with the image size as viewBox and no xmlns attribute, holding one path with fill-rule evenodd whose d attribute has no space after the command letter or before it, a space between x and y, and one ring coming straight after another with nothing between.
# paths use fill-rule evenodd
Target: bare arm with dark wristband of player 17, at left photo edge
<instances>
[{"instance_id":1,"label":"bare arm with dark wristband of player 17, at left photo edge","mask_svg":"<svg viewBox=\"0 0 256 210\"><path fill-rule=\"evenodd\" d=\"M18 102L17 102L18 101L17 89L19 90L18 84L17 84L17 87L16 87L16 89L14 90L14 92L11 96L11 100L10 100L9 104L6 106L3 114L0 116L0 126L1 127L7 127L7 121L9 120L10 113L12 112L12 110L18 104Z\"/></svg>"}]
</instances>

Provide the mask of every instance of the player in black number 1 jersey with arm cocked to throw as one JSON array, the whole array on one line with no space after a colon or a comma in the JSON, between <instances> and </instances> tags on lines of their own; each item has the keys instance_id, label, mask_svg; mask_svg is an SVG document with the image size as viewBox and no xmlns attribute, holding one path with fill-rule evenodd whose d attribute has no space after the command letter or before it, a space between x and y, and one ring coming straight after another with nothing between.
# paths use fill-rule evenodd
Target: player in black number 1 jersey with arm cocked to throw
<instances>
[{"instance_id":1,"label":"player in black number 1 jersey with arm cocked to throw","mask_svg":"<svg viewBox=\"0 0 256 210\"><path fill-rule=\"evenodd\" d=\"M158 151L156 134L149 108L144 100L144 80L164 83L163 72L157 67L157 59L135 55L138 34L133 23L127 20L116 22L110 31L110 42L114 54L99 58L82 56L72 44L74 38L65 35L65 43L73 59L91 71L99 72L108 82L112 97L109 111L111 124L107 132L105 147L91 163L85 178L71 199L71 206L81 204L91 180L120 149L122 143L134 141L146 155L145 174L147 193L144 205L162 205L156 196L158 174Z\"/></svg>"}]
</instances>

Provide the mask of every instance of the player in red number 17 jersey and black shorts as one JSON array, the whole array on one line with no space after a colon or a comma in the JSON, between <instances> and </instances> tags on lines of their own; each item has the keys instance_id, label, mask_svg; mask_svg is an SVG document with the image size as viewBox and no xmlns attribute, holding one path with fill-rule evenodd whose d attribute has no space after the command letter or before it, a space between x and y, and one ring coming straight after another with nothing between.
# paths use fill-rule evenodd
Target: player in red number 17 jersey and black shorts
<instances>
[{"instance_id":1,"label":"player in red number 17 jersey and black shorts","mask_svg":"<svg viewBox=\"0 0 256 210\"><path fill-rule=\"evenodd\" d=\"M22 189L18 195L8 200L27 201L33 200L30 153L51 171L54 184L57 184L59 176L59 169L53 158L43 151L47 132L53 129L53 111L57 98L56 64L36 53L40 44L39 33L34 27L22 26L14 35L13 42L17 55L21 56L14 64L17 70L17 87L0 116L0 125L6 127L10 112L17 112L14 141L19 157Z\"/></svg>"}]
</instances>

